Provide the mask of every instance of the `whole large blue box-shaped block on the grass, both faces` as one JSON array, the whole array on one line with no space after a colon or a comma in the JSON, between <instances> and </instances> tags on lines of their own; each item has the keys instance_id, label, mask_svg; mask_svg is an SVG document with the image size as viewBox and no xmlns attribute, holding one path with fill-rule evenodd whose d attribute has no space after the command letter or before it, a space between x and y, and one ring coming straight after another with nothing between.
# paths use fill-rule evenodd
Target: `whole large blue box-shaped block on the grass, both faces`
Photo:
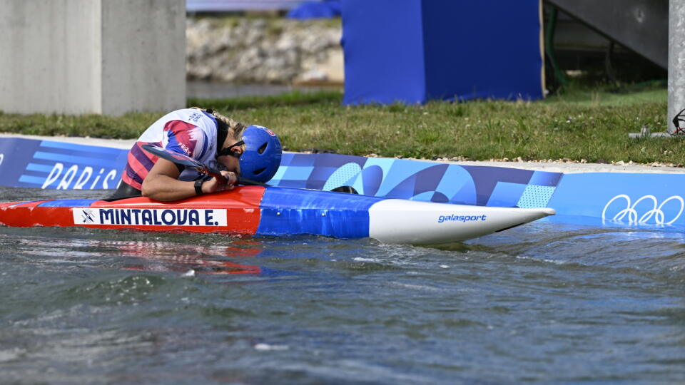
<instances>
[{"instance_id":1,"label":"whole large blue box-shaped block on the grass, both faces","mask_svg":"<svg viewBox=\"0 0 685 385\"><path fill-rule=\"evenodd\" d=\"M345 0L345 104L544 96L540 0Z\"/></svg>"}]
</instances>

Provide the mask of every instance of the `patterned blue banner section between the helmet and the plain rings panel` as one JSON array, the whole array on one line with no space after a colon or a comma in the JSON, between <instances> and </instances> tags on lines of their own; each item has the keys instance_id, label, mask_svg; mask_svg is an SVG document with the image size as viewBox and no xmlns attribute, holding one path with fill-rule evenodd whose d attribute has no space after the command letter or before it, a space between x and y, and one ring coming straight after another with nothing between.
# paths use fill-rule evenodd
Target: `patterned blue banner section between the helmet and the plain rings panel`
<instances>
[{"instance_id":1,"label":"patterned blue banner section between the helmet and the plain rings panel","mask_svg":"<svg viewBox=\"0 0 685 385\"><path fill-rule=\"evenodd\" d=\"M497 207L548 207L562 173L419 160L284 153L271 185L352 186L362 195Z\"/></svg>"}]
</instances>

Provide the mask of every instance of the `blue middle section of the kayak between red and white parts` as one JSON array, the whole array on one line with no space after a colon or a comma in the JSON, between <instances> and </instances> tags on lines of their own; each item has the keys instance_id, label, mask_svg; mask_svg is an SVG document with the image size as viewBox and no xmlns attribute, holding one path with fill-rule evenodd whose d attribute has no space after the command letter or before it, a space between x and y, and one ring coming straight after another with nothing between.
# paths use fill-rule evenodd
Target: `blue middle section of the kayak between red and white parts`
<instances>
[{"instance_id":1,"label":"blue middle section of the kayak between red and white parts","mask_svg":"<svg viewBox=\"0 0 685 385\"><path fill-rule=\"evenodd\" d=\"M257 235L369 236L369 207L384 200L330 191L267 188Z\"/></svg>"}]
</instances>

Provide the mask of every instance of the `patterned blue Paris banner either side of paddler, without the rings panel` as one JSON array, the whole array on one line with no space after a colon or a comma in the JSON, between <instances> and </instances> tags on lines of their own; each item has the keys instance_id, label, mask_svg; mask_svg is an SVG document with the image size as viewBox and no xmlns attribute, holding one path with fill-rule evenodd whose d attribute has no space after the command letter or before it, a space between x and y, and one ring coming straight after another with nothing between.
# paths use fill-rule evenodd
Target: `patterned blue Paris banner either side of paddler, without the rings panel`
<instances>
[{"instance_id":1,"label":"patterned blue Paris banner either side of paddler, without the rings panel","mask_svg":"<svg viewBox=\"0 0 685 385\"><path fill-rule=\"evenodd\" d=\"M128 150L53 140L0 138L0 185L113 189ZM562 174L392 158L284 153L271 185L502 207L546 207Z\"/></svg>"}]
</instances>

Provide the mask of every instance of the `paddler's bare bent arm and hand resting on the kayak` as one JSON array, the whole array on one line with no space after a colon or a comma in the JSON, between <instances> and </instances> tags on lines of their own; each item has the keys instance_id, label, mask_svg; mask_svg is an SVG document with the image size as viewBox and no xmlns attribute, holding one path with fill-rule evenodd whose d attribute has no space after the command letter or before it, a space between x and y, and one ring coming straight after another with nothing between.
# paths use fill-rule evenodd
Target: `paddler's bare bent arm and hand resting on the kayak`
<instances>
[{"instance_id":1,"label":"paddler's bare bent arm and hand resting on the kayak","mask_svg":"<svg viewBox=\"0 0 685 385\"><path fill-rule=\"evenodd\" d=\"M195 182L178 180L178 175L181 175L181 171L178 170L174 163L166 159L158 159L143 180L143 188L141 190L143 197L171 201L197 195ZM225 178L226 183L219 183L216 178L212 178L202 184L202 192L207 194L233 189L233 185L238 180L235 173L221 171L221 175Z\"/></svg>"}]
</instances>

